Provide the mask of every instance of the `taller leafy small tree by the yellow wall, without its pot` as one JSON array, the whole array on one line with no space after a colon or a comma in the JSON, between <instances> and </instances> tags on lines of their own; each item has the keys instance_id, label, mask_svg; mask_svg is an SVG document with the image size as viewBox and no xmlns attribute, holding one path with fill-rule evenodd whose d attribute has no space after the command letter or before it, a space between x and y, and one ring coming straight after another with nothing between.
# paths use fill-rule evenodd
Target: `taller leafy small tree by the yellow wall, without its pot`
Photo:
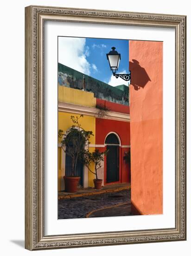
<instances>
[{"instance_id":1,"label":"taller leafy small tree by the yellow wall, without its pot","mask_svg":"<svg viewBox=\"0 0 191 256\"><path fill-rule=\"evenodd\" d=\"M66 134L63 133L63 130L58 131L61 148L64 150L66 155L71 157L71 176L76 175L77 160L82 158L85 144L89 143L90 136L93 136L92 131L85 131L81 127L79 119L82 117L83 115L80 115L80 117L71 115L70 119L74 125L72 125L70 130L67 131Z\"/></svg>"}]
</instances>

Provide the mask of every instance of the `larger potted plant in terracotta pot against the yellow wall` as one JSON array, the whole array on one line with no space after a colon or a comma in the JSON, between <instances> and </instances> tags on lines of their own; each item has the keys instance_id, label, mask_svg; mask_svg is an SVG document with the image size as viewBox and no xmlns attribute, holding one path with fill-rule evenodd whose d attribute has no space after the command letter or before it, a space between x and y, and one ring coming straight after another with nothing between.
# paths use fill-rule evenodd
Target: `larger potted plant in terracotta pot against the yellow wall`
<instances>
[{"instance_id":1,"label":"larger potted plant in terracotta pot against the yellow wall","mask_svg":"<svg viewBox=\"0 0 191 256\"><path fill-rule=\"evenodd\" d=\"M70 130L65 134L63 133L63 130L59 130L58 132L61 148L64 150L66 155L71 158L70 176L64 176L65 190L67 192L77 191L77 185L80 180L80 177L76 175L77 161L81 158L84 152L85 144L89 143L89 138L93 135L92 131L85 131L81 127L79 119L82 117L83 115L80 115L80 117L71 115L70 118L73 125Z\"/></svg>"}]
</instances>

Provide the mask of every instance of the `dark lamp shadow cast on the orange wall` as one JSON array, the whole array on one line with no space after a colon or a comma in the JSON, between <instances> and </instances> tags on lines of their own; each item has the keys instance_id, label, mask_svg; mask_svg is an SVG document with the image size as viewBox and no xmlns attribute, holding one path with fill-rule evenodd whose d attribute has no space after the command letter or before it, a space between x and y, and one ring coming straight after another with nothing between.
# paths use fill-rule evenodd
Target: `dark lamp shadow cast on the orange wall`
<instances>
[{"instance_id":1,"label":"dark lamp shadow cast on the orange wall","mask_svg":"<svg viewBox=\"0 0 191 256\"><path fill-rule=\"evenodd\" d=\"M129 70L131 70L131 85L135 90L144 88L148 81L151 81L144 67L141 67L139 61L129 61Z\"/></svg>"}]
</instances>

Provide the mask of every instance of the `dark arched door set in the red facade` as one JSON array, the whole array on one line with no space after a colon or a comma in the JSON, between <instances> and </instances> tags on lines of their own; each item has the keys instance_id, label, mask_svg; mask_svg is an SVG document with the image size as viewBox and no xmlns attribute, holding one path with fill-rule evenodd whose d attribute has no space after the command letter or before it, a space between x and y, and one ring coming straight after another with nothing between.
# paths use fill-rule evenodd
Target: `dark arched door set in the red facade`
<instances>
[{"instance_id":1,"label":"dark arched door set in the red facade","mask_svg":"<svg viewBox=\"0 0 191 256\"><path fill-rule=\"evenodd\" d=\"M107 144L107 182L119 181L119 140L114 133L107 136L105 140Z\"/></svg>"}]
</instances>

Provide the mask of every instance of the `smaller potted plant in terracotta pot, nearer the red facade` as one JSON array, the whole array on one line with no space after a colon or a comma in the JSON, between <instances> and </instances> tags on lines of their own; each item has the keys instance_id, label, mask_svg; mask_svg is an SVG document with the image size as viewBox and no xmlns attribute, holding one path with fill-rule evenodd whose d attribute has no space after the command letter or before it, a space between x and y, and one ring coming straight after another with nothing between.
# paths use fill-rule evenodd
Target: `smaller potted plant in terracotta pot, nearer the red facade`
<instances>
[{"instance_id":1,"label":"smaller potted plant in terracotta pot, nearer the red facade","mask_svg":"<svg viewBox=\"0 0 191 256\"><path fill-rule=\"evenodd\" d=\"M89 150L84 149L83 153L83 163L87 166L89 171L96 175L96 179L94 179L94 187L95 189L101 189L102 188L102 179L98 179L97 171L99 168L102 167L102 161L104 160L104 155L106 155L108 150L105 150L104 152L100 152L99 149L96 149L94 152L89 152ZM94 163L95 164L95 172L93 172L89 168L89 164Z\"/></svg>"}]
</instances>

